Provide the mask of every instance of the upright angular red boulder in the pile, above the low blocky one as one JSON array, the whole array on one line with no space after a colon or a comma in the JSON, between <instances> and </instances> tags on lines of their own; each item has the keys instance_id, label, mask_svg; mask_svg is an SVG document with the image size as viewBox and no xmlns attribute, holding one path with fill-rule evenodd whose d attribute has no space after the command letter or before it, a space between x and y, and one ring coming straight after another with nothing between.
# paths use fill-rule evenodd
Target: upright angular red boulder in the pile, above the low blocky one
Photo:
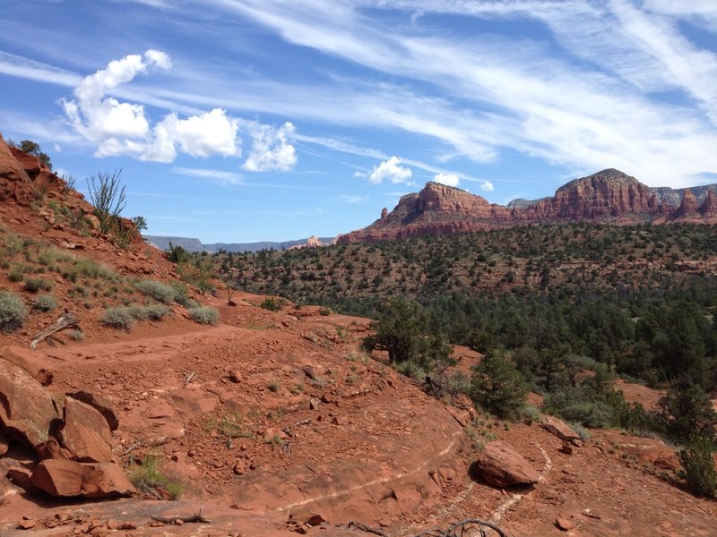
<instances>
[{"instance_id":1,"label":"upright angular red boulder in the pile, above the low blocky one","mask_svg":"<svg viewBox=\"0 0 717 537\"><path fill-rule=\"evenodd\" d=\"M112 431L98 410L72 397L65 400L65 424L60 442L82 463L112 460Z\"/></svg>"}]
</instances>

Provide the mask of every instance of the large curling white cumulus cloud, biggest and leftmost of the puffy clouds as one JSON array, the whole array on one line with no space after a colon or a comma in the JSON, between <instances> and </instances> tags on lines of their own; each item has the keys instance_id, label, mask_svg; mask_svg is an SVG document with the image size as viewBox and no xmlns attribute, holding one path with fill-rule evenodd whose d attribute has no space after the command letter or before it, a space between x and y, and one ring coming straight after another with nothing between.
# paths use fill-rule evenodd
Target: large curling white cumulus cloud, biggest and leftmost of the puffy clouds
<instances>
[{"instance_id":1,"label":"large curling white cumulus cloud, biggest and leftmost of the puffy clouds","mask_svg":"<svg viewBox=\"0 0 717 537\"><path fill-rule=\"evenodd\" d=\"M166 71L171 66L171 58L160 50L126 55L82 79L73 92L75 99L61 101L74 130L97 144L96 156L130 155L172 162L177 152L192 157L241 154L238 124L221 108L186 119L171 113L152 126L142 105L108 96L138 74L152 69Z\"/></svg>"}]
</instances>

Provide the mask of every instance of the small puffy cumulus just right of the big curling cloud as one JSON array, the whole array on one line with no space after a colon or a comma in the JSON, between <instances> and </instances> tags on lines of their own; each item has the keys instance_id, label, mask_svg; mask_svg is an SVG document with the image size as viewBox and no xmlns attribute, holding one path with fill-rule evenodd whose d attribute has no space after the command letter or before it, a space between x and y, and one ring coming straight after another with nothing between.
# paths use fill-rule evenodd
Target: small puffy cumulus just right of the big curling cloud
<instances>
[{"instance_id":1,"label":"small puffy cumulus just right of the big curling cloud","mask_svg":"<svg viewBox=\"0 0 717 537\"><path fill-rule=\"evenodd\" d=\"M250 172L290 170L297 163L296 149L289 143L289 137L295 130L294 124L289 122L278 129L255 124L250 129L254 138L252 149L242 167Z\"/></svg>"}]
</instances>

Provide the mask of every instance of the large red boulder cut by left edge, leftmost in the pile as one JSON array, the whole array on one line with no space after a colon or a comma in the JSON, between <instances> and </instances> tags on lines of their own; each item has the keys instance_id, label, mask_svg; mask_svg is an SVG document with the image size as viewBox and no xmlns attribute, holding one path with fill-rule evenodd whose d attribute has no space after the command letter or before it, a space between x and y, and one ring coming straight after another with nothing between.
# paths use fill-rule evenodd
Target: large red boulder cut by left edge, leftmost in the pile
<instances>
[{"instance_id":1,"label":"large red boulder cut by left edge, leftmost in the pile","mask_svg":"<svg viewBox=\"0 0 717 537\"><path fill-rule=\"evenodd\" d=\"M40 383L10 362L0 367L0 423L11 439L38 447L58 419L52 399Z\"/></svg>"}]
</instances>

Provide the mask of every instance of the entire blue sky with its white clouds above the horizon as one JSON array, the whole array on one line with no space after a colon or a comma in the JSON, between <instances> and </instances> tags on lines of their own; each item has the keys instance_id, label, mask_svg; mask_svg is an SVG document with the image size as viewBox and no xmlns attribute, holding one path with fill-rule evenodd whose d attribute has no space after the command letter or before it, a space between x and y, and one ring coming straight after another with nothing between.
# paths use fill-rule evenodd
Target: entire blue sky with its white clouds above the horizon
<instances>
[{"instance_id":1,"label":"entire blue sky with its white clouds above the horizon","mask_svg":"<svg viewBox=\"0 0 717 537\"><path fill-rule=\"evenodd\" d=\"M332 236L432 180L717 182L715 0L3 0L0 132L204 243Z\"/></svg>"}]
</instances>

